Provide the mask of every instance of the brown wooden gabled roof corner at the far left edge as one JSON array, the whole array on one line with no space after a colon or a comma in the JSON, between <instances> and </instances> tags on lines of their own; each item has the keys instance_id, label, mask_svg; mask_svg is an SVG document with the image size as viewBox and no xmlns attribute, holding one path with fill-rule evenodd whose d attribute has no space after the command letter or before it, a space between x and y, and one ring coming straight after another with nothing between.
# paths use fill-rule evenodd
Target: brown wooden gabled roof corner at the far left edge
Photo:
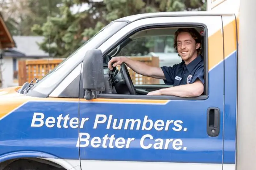
<instances>
[{"instance_id":1,"label":"brown wooden gabled roof corner at the far left edge","mask_svg":"<svg viewBox=\"0 0 256 170\"><path fill-rule=\"evenodd\" d=\"M5 25L2 14L0 13L0 49L11 47L16 47L16 44Z\"/></svg>"}]
</instances>

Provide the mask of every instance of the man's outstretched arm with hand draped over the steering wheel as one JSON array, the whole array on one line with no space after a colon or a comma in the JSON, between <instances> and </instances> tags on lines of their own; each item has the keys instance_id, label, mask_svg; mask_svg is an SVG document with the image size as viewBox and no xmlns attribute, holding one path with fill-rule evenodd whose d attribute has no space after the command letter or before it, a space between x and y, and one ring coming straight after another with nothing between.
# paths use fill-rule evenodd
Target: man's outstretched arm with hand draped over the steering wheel
<instances>
[{"instance_id":1,"label":"man's outstretched arm with hand draped over the steering wheel","mask_svg":"<svg viewBox=\"0 0 256 170\"><path fill-rule=\"evenodd\" d=\"M159 67L148 66L147 64L145 64L141 61L132 60L127 57L113 57L108 62L108 68L110 70L113 69L113 67L111 65L113 62L115 62L113 64L113 67L121 65L124 62L128 67L130 67L137 74L165 80L164 73L163 73L162 69Z\"/></svg>"}]
</instances>

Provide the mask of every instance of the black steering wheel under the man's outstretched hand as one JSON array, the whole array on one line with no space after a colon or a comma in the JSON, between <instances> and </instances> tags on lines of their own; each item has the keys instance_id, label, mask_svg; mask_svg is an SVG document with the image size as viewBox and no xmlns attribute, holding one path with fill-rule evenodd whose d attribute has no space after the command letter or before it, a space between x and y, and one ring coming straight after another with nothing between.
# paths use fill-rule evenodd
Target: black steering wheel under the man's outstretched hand
<instances>
[{"instance_id":1,"label":"black steering wheel under the man's outstretched hand","mask_svg":"<svg viewBox=\"0 0 256 170\"><path fill-rule=\"evenodd\" d=\"M131 76L129 71L125 65L125 63L121 64L120 70L113 77L114 82L116 83L116 92L118 94L127 94L126 91L128 89L130 95L136 95L135 88L132 83Z\"/></svg>"}]
</instances>

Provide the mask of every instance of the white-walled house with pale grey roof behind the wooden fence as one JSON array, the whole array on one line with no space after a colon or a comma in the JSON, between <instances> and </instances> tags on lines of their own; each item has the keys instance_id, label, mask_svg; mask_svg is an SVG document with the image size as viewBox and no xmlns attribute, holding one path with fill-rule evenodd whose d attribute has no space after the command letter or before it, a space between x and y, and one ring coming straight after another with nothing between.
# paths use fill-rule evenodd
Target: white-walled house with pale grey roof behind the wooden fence
<instances>
[{"instance_id":1,"label":"white-walled house with pale grey roof behind the wooden fence","mask_svg":"<svg viewBox=\"0 0 256 170\"><path fill-rule=\"evenodd\" d=\"M48 58L48 53L39 49L37 42L44 40L42 36L13 36L17 47L4 51L2 64L3 88L18 86L18 61L27 59Z\"/></svg>"}]
</instances>

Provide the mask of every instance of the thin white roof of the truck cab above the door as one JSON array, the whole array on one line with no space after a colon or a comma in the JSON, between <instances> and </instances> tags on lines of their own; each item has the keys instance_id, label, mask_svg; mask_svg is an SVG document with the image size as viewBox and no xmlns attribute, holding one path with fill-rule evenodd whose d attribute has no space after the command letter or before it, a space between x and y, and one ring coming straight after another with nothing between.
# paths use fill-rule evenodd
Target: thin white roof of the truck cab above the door
<instances>
[{"instance_id":1,"label":"thin white roof of the truck cab above the door","mask_svg":"<svg viewBox=\"0 0 256 170\"><path fill-rule=\"evenodd\" d=\"M177 11L177 12L152 12L131 15L123 18L119 18L116 21L126 20L126 21L136 21L144 18L154 18L154 17L172 17L172 16L220 16L220 15L234 15L233 13L220 13L212 11Z\"/></svg>"}]
</instances>

